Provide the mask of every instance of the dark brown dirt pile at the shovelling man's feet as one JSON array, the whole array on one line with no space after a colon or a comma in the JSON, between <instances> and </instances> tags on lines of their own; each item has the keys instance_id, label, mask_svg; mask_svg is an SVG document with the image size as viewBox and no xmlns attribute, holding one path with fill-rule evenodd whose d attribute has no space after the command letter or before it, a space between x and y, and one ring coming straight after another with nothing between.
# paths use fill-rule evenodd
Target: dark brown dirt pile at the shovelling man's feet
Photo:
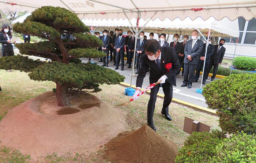
<instances>
[{"instance_id":1,"label":"dark brown dirt pile at the shovelling man's feet","mask_svg":"<svg viewBox=\"0 0 256 163\"><path fill-rule=\"evenodd\" d=\"M106 145L105 157L118 163L174 163L175 143L165 140L149 126L119 134Z\"/></svg>"}]
</instances>

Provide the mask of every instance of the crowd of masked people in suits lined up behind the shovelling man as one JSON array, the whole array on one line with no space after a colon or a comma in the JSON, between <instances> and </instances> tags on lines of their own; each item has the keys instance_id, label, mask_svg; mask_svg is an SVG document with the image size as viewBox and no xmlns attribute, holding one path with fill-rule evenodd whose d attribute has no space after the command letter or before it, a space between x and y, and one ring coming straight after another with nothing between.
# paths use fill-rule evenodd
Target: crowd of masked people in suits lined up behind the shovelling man
<instances>
[{"instance_id":1,"label":"crowd of masked people in suits lined up behind the shovelling man","mask_svg":"<svg viewBox=\"0 0 256 163\"><path fill-rule=\"evenodd\" d=\"M116 28L113 31L110 31L108 35L108 30L103 31L103 35L101 36L99 32L94 33L99 39L102 40L103 46L99 47L99 50L106 53L106 56L100 58L100 61L103 62L102 66L108 67L109 61L113 61L113 65L116 66L115 69L118 69L120 61L121 61L121 71L124 70L124 52L126 50L127 53L127 68L131 68L132 58L135 50L135 62L136 62L136 72L138 74L141 67L140 59L144 55L144 45L146 44L147 37L144 32L141 31L139 33L139 38L137 38L137 45L135 47L135 32L127 31L127 36L123 36L123 30ZM154 33L149 34L149 39L154 39ZM173 42L170 44L166 41L166 34L162 33L159 35L159 45L161 47L173 47L177 58L182 67L181 75L184 76L183 83L181 87L187 86L188 88L192 87L193 82L197 82L200 76L200 71L203 68L204 60L206 60L205 68L204 68L204 77L203 84L206 83L208 78L208 74L213 67L213 75L211 76L211 80L215 79L217 74L218 65L221 64L223 56L225 54L226 49L223 47L225 43L225 39L220 39L218 45L212 45L212 38L209 38L209 44L207 47L207 56L205 56L206 52L206 43L203 43L198 38L198 31L193 30L191 34L191 40L188 35L183 36L183 42L179 42L180 35L174 34ZM126 49L125 49L126 48ZM110 55L110 60L108 59ZM179 70L176 75L180 74ZM196 72L195 72L196 71Z\"/></svg>"}]
</instances>

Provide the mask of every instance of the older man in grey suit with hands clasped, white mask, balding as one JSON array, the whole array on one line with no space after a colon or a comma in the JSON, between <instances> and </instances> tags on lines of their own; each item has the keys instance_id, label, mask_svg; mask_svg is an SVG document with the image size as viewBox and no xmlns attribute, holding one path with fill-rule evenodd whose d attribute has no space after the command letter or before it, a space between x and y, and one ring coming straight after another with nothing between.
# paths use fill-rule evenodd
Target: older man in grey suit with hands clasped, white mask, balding
<instances>
[{"instance_id":1,"label":"older man in grey suit with hands clasped, white mask, balding","mask_svg":"<svg viewBox=\"0 0 256 163\"><path fill-rule=\"evenodd\" d=\"M195 80L195 69L198 63L199 54L203 49L203 41L198 39L198 31L193 30L192 39L185 45L184 58L184 80L181 87L192 87L192 82Z\"/></svg>"}]
</instances>

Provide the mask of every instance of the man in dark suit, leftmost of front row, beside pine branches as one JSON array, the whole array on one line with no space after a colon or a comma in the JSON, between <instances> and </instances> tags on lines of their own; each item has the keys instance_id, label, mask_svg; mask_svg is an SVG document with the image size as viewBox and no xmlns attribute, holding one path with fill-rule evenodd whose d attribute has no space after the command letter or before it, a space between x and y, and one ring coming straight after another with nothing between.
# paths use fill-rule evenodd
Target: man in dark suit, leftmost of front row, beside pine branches
<instances>
[{"instance_id":1,"label":"man in dark suit, leftmost of front row, beside pine branches","mask_svg":"<svg viewBox=\"0 0 256 163\"><path fill-rule=\"evenodd\" d=\"M106 56L102 58L103 65L108 67L109 64L109 42L110 42L110 37L108 36L108 30L103 31L103 36L101 37L101 41L103 43L102 46L102 52L106 53Z\"/></svg>"}]
</instances>

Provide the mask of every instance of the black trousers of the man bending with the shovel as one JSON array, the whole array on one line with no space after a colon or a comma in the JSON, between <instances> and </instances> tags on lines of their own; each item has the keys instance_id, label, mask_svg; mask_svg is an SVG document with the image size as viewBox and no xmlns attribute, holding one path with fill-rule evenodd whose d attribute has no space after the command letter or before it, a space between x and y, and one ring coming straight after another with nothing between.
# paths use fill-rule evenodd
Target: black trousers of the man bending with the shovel
<instances>
[{"instance_id":1,"label":"black trousers of the man bending with the shovel","mask_svg":"<svg viewBox=\"0 0 256 163\"><path fill-rule=\"evenodd\" d=\"M150 98L147 105L147 123L149 125L153 124L153 114L155 110L155 102L157 101L157 93L159 91L160 84L156 85L154 88L150 90ZM173 85L165 82L162 84L163 93L165 94L163 100L162 111L165 114L169 114L169 105L173 98Z\"/></svg>"}]
</instances>

